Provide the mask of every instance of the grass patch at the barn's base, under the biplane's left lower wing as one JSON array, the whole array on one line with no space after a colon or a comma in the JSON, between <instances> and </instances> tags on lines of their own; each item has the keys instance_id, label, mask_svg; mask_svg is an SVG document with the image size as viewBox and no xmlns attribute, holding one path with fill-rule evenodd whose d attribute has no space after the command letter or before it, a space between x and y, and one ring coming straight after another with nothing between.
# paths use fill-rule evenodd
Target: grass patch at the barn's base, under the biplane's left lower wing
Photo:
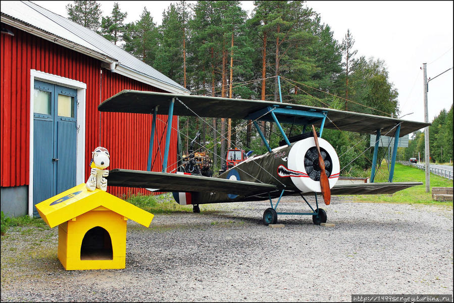
<instances>
[{"instance_id":1,"label":"grass patch at the barn's base, under the biplane's left lower wing","mask_svg":"<svg viewBox=\"0 0 454 303\"><path fill-rule=\"evenodd\" d=\"M126 201L152 214L192 212L191 206L177 204L170 192L160 195L144 195L139 192L138 194L129 196Z\"/></svg>"}]
</instances>

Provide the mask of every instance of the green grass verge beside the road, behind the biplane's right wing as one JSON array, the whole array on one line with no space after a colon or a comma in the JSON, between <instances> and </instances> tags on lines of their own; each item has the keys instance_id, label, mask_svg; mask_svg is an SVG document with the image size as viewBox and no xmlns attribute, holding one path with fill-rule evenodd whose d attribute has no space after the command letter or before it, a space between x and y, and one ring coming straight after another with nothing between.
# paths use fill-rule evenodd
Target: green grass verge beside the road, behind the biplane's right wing
<instances>
[{"instance_id":1,"label":"green grass verge beside the road, behind the biplane's right wing","mask_svg":"<svg viewBox=\"0 0 454 303\"><path fill-rule=\"evenodd\" d=\"M386 164L380 166L381 173L375 177L375 182L388 182L388 171ZM378 195L355 195L356 202L372 203L401 203L401 204L425 204L451 206L452 201L440 202L432 199L432 187L452 187L452 180L430 174L430 191L426 192L425 172L412 166L405 166L399 163L394 167L393 182L423 182L423 185L413 186L393 194Z\"/></svg>"}]
</instances>

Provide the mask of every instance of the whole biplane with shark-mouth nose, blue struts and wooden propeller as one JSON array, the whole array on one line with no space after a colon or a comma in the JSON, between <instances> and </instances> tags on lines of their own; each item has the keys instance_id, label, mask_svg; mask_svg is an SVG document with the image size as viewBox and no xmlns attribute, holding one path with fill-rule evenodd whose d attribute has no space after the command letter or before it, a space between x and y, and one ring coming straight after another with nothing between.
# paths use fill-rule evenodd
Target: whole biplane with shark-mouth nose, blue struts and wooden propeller
<instances>
[{"instance_id":1,"label":"whole biplane with shark-mouth nose, blue struts and wooden propeller","mask_svg":"<svg viewBox=\"0 0 454 303\"><path fill-rule=\"evenodd\" d=\"M271 207L263 214L265 225L275 224L277 215L309 215L312 216L314 224L320 224L327 220L326 212L319 207L320 193L328 205L331 195L390 194L423 184L392 183L398 139L394 140L389 182L374 183L374 177L380 135L399 138L426 127L430 125L429 123L282 102L137 90L123 90L117 93L100 104L98 110L153 115L149 153L153 150L156 115L168 115L162 171L150 171L149 154L147 171L112 169L109 172L108 183L111 186L171 191L177 203L192 205L195 213L200 212L200 204L269 199ZM268 151L264 155L247 158L217 177L169 173L167 161L174 115L250 120ZM284 138L281 146L271 148L258 125L259 121L276 124ZM287 137L281 123L304 125L304 129L306 126L310 128L312 126L312 131ZM318 133L315 127L318 128ZM340 174L339 159L331 144L322 138L325 128L376 135L371 183L336 185ZM277 212L279 201L286 195L300 195L311 211ZM308 195L315 195L315 207L305 198Z\"/></svg>"}]
</instances>

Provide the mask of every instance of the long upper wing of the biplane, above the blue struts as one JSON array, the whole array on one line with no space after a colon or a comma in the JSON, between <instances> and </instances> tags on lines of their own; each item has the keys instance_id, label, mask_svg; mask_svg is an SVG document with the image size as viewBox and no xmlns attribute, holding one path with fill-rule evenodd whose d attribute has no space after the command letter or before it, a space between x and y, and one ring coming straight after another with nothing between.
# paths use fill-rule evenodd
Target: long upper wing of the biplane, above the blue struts
<instances>
[{"instance_id":1,"label":"long upper wing of the biplane, above the blue struts","mask_svg":"<svg viewBox=\"0 0 454 303\"><path fill-rule=\"evenodd\" d=\"M269 113L269 109L275 109L274 113L281 123L289 122L294 124L314 124L315 126L320 126L320 118L298 116L297 111L312 113L325 112L328 116L328 119L325 121L325 128L369 134L375 134L377 129L381 129L382 135L386 134L387 136L393 136L393 129L397 123L401 123L400 136L404 136L430 125L430 123L289 103L140 90L120 91L100 104L98 110L101 112L150 114L153 113L155 107L158 106L157 114L167 115L172 98L176 98L173 114L177 116L250 119L250 117L248 117L249 114L263 111L260 112L260 118L258 118L258 120L274 121Z\"/></svg>"}]
</instances>

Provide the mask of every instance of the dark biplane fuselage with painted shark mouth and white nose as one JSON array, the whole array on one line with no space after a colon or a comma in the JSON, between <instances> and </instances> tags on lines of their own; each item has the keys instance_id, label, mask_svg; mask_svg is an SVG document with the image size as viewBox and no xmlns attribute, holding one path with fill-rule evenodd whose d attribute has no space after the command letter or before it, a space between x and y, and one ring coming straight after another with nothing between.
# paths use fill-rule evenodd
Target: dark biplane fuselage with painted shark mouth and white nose
<instances>
[{"instance_id":1,"label":"dark biplane fuselage with painted shark mouth and white nose","mask_svg":"<svg viewBox=\"0 0 454 303\"><path fill-rule=\"evenodd\" d=\"M334 148L326 140L319 138L326 165L330 188L339 177L339 160ZM217 178L274 184L279 190L270 196L279 196L282 190L297 192L320 192L320 167L313 137L279 146L268 153L250 157ZM179 204L209 204L267 198L260 195L238 195L221 192L174 193Z\"/></svg>"}]
</instances>

